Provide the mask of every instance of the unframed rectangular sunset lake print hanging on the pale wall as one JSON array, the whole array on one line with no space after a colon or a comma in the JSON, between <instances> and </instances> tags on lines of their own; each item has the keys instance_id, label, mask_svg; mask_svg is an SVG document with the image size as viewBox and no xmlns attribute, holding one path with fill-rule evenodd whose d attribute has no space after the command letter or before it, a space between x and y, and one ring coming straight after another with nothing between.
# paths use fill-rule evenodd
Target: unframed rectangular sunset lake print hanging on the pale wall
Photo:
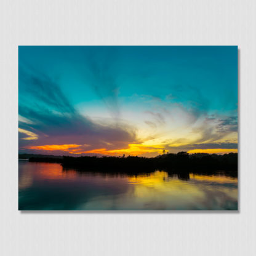
<instances>
[{"instance_id":1,"label":"unframed rectangular sunset lake print hanging on the pale wall","mask_svg":"<svg viewBox=\"0 0 256 256\"><path fill-rule=\"evenodd\" d=\"M19 46L19 210L238 210L237 46Z\"/></svg>"}]
</instances>

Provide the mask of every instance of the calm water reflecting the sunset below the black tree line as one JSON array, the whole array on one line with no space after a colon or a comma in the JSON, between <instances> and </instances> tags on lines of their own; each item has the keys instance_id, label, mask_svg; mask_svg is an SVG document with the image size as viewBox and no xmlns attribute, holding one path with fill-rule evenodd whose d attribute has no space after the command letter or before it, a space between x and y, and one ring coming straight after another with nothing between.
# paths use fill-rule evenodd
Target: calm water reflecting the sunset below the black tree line
<instances>
[{"instance_id":1,"label":"calm water reflecting the sunset below the black tree line","mask_svg":"<svg viewBox=\"0 0 256 256\"><path fill-rule=\"evenodd\" d=\"M78 172L19 160L20 210L237 210L238 179Z\"/></svg>"}]
</instances>

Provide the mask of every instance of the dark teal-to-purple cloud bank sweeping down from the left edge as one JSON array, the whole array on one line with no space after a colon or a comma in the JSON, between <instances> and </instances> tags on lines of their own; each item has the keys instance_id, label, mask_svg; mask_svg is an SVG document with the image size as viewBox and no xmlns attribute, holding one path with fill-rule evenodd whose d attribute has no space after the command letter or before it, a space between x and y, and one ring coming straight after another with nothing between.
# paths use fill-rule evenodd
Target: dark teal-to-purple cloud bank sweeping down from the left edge
<instances>
[{"instance_id":1,"label":"dark teal-to-purple cloud bank sweeping down from the left edge","mask_svg":"<svg viewBox=\"0 0 256 256\"><path fill-rule=\"evenodd\" d=\"M24 72L24 70L23 70ZM33 130L38 140L33 145L20 140L20 148L42 145L94 145L109 148L121 148L135 141L135 130L122 122L118 124L98 124L82 116L70 104L58 82L45 74L22 74L28 87L26 101L20 102L19 114L31 122L19 122L20 131ZM35 102L35 103L34 103ZM31 132L31 134L33 134Z\"/></svg>"}]
</instances>

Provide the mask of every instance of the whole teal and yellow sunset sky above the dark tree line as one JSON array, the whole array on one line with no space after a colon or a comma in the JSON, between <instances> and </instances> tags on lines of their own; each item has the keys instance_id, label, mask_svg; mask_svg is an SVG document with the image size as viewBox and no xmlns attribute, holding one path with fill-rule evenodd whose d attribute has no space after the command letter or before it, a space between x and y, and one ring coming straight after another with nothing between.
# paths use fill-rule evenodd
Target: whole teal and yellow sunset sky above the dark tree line
<instances>
[{"instance_id":1,"label":"whole teal and yellow sunset sky above the dark tree line","mask_svg":"<svg viewBox=\"0 0 256 256\"><path fill-rule=\"evenodd\" d=\"M237 46L19 46L19 153L238 151Z\"/></svg>"}]
</instances>

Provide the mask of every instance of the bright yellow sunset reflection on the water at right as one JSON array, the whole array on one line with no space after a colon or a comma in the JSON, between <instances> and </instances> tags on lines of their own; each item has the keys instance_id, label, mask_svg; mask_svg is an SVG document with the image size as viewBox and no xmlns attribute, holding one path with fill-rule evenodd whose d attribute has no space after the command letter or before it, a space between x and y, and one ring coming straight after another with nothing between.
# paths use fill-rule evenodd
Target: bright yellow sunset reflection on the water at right
<instances>
[{"instance_id":1,"label":"bright yellow sunset reflection on the water at right","mask_svg":"<svg viewBox=\"0 0 256 256\"><path fill-rule=\"evenodd\" d=\"M129 177L129 183L134 185L137 200L144 201L148 207L161 201L159 207L168 209L193 209L195 205L203 209L208 201L222 206L226 199L233 201L238 197L237 178L224 175L190 174L184 180L178 175L169 177L167 172L156 171Z\"/></svg>"}]
</instances>

